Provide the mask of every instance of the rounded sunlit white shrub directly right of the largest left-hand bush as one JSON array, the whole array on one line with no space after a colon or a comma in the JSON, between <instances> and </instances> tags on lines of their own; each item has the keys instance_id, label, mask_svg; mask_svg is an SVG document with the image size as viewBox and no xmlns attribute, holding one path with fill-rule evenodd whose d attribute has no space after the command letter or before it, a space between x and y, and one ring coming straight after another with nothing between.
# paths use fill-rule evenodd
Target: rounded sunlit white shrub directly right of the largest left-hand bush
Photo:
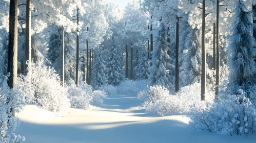
<instances>
[{"instance_id":1,"label":"rounded sunlit white shrub directly right of the largest left-hand bush","mask_svg":"<svg viewBox=\"0 0 256 143\"><path fill-rule=\"evenodd\" d=\"M92 87L86 83L70 86L68 93L72 108L87 109L93 100Z\"/></svg>"}]
</instances>

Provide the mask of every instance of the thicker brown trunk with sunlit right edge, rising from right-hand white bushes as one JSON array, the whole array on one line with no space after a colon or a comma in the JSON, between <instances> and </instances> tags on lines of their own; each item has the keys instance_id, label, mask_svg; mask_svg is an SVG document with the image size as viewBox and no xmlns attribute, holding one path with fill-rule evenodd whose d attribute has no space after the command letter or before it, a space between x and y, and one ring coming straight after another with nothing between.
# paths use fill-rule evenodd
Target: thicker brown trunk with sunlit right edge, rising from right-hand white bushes
<instances>
[{"instance_id":1,"label":"thicker brown trunk with sunlit right edge, rising from right-hand white bushes","mask_svg":"<svg viewBox=\"0 0 256 143\"><path fill-rule=\"evenodd\" d=\"M206 87L205 17L206 17L205 0L203 0L201 100L205 100L205 87Z\"/></svg>"}]
</instances>

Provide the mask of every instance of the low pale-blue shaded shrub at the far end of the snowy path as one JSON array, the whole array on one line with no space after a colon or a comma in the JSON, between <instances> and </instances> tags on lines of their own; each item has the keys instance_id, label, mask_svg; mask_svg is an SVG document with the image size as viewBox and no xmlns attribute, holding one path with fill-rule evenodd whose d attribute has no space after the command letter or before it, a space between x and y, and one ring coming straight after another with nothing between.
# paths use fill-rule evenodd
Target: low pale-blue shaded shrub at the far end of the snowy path
<instances>
[{"instance_id":1,"label":"low pale-blue shaded shrub at the far end of the snowy path","mask_svg":"<svg viewBox=\"0 0 256 143\"><path fill-rule=\"evenodd\" d=\"M147 85L150 85L150 80L132 81L125 80L119 86L117 86L117 94L124 94L128 96L136 96L140 91L147 89Z\"/></svg>"}]
</instances>

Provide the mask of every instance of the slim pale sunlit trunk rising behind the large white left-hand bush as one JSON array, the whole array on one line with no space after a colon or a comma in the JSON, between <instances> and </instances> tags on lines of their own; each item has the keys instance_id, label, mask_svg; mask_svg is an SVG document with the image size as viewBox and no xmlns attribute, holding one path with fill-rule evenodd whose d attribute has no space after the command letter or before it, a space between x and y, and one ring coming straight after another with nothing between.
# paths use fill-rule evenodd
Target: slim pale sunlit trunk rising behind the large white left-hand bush
<instances>
[{"instance_id":1,"label":"slim pale sunlit trunk rising behind the large white left-hand bush","mask_svg":"<svg viewBox=\"0 0 256 143\"><path fill-rule=\"evenodd\" d=\"M64 87L65 85L65 43L64 43L64 26L62 26L62 67L61 67L61 82L62 86Z\"/></svg>"}]
</instances>

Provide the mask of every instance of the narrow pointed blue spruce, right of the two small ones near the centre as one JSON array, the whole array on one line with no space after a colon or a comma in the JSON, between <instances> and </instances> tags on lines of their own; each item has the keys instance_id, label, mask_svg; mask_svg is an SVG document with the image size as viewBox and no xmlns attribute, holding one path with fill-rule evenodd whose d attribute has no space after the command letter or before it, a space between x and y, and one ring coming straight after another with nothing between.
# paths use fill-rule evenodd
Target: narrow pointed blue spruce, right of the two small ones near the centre
<instances>
[{"instance_id":1,"label":"narrow pointed blue spruce, right of the two small ones near the centre","mask_svg":"<svg viewBox=\"0 0 256 143\"><path fill-rule=\"evenodd\" d=\"M112 85L119 85L124 80L124 71L122 69L122 56L117 51L115 40L111 43L111 51L108 58L108 82Z\"/></svg>"}]
</instances>

